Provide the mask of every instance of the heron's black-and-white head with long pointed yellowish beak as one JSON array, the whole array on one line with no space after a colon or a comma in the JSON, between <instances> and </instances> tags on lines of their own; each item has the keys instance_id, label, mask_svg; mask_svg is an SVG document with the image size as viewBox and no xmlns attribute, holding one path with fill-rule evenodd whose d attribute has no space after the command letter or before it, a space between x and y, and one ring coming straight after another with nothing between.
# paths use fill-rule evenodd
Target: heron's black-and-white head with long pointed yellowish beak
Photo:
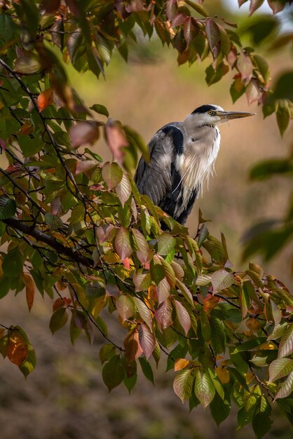
<instances>
[{"instance_id":1,"label":"heron's black-and-white head with long pointed yellowish beak","mask_svg":"<svg viewBox=\"0 0 293 439\"><path fill-rule=\"evenodd\" d=\"M218 123L239 119L247 116L254 116L255 113L225 112L219 105L202 105L196 108L188 117L196 126L218 125Z\"/></svg>"}]
</instances>

